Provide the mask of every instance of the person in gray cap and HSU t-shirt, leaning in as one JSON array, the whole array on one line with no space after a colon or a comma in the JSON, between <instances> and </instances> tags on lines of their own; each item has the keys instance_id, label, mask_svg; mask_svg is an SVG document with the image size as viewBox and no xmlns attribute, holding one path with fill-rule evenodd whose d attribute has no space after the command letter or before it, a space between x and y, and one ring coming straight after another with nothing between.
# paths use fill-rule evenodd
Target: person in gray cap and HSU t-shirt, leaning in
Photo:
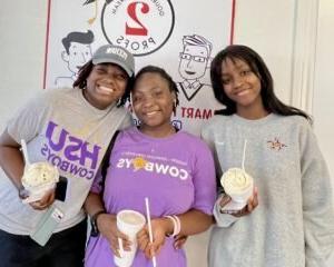
<instances>
[{"instance_id":1,"label":"person in gray cap and HSU t-shirt, leaning in","mask_svg":"<svg viewBox=\"0 0 334 267\"><path fill-rule=\"evenodd\" d=\"M130 113L120 106L134 71L134 57L126 49L101 46L80 69L73 88L43 90L8 122L0 136L1 266L84 266L82 205L114 132L131 125ZM47 161L68 180L65 199L55 200L57 189L50 189L39 200L22 202L27 188L21 180L21 139L31 164ZM55 217L58 224L46 227L51 237L40 246L35 233L45 229L40 225L49 221L43 218L55 207L58 212L48 218Z\"/></svg>"}]
</instances>

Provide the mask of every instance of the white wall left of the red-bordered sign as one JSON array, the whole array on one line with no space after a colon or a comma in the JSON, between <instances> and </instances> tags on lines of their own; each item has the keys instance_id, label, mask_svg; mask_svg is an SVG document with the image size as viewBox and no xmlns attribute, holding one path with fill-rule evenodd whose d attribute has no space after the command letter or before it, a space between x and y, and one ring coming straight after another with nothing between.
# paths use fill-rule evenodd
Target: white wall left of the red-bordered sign
<instances>
[{"instance_id":1,"label":"white wall left of the red-bordered sign","mask_svg":"<svg viewBox=\"0 0 334 267\"><path fill-rule=\"evenodd\" d=\"M1 0L0 131L13 110L42 87L48 1Z\"/></svg>"}]
</instances>

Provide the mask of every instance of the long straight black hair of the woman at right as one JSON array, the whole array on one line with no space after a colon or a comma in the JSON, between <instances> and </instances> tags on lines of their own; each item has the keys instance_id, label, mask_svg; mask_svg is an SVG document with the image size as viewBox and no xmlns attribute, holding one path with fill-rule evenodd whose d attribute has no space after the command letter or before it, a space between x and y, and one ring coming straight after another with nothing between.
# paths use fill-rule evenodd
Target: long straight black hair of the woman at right
<instances>
[{"instance_id":1,"label":"long straight black hair of the woman at right","mask_svg":"<svg viewBox=\"0 0 334 267\"><path fill-rule=\"evenodd\" d=\"M214 89L215 98L217 101L225 106L225 109L217 110L217 115L233 115L236 113L236 102L227 97L222 82L223 62L230 59L235 62L239 59L246 62L250 70L257 76L261 81L261 97L264 108L268 112L282 115L282 116L302 116L312 122L311 117L297 108L283 103L274 92L273 77L262 59L262 57L253 49L246 46L232 44L219 51L210 66L210 79Z\"/></svg>"}]
</instances>

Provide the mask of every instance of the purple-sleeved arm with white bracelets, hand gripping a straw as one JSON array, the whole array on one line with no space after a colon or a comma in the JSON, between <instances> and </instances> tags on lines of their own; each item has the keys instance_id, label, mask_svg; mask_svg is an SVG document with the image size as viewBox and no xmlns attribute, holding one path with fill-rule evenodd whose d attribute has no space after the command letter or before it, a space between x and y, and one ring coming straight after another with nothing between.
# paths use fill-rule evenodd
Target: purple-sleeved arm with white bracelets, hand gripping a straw
<instances>
[{"instance_id":1,"label":"purple-sleeved arm with white bracelets, hand gripping a straw","mask_svg":"<svg viewBox=\"0 0 334 267\"><path fill-rule=\"evenodd\" d=\"M194 158L189 162L194 185L194 202L188 211L177 215L180 222L180 236L195 235L205 231L214 222L212 211L216 198L215 167L213 156L207 146L199 141L189 144L194 151ZM164 245L165 237L175 234L175 224L170 218L158 218L153 220L154 243L148 246L147 235L141 233L139 246L146 256L157 254ZM145 229L144 229L145 231ZM174 244L175 246L175 244Z\"/></svg>"}]
</instances>

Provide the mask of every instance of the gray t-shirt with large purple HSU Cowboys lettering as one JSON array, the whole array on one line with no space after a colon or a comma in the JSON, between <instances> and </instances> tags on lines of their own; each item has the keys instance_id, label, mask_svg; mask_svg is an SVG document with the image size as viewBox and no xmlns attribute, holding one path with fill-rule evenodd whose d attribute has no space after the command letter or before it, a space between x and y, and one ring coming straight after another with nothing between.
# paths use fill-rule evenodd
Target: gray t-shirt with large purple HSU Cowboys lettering
<instances>
[{"instance_id":1,"label":"gray t-shirt with large purple HSU Cowboys lettering","mask_svg":"<svg viewBox=\"0 0 334 267\"><path fill-rule=\"evenodd\" d=\"M8 123L9 135L27 141L31 162L49 161L68 179L66 201L56 201L65 217L55 231L80 222L82 204L115 130L131 125L124 108L92 107L78 88L48 89L33 98ZM10 179L0 172L0 229L29 235L45 211L24 205Z\"/></svg>"}]
</instances>

